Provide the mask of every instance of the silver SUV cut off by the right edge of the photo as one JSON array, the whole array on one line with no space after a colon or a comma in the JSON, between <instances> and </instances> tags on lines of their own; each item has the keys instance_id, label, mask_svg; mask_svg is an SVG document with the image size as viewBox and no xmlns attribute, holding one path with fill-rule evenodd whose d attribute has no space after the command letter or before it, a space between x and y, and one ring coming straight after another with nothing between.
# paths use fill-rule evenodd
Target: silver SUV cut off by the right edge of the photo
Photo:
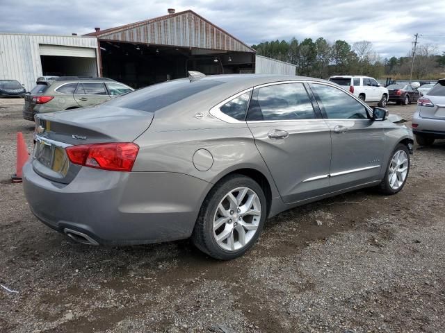
<instances>
[{"instance_id":1,"label":"silver SUV cut off by the right edge of the photo","mask_svg":"<svg viewBox=\"0 0 445 333\"><path fill-rule=\"evenodd\" d=\"M417 101L412 116L412 131L416 142L430 146L435 139L445 139L445 78L437 81L430 91Z\"/></svg>"}]
</instances>

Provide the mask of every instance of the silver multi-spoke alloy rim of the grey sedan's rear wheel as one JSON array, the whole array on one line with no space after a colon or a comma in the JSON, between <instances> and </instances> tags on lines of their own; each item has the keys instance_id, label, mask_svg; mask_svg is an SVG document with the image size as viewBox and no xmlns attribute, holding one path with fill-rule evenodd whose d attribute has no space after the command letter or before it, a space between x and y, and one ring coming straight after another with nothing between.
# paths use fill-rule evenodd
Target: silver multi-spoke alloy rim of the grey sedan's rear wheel
<instances>
[{"instance_id":1,"label":"silver multi-spoke alloy rim of the grey sedan's rear wheel","mask_svg":"<svg viewBox=\"0 0 445 333\"><path fill-rule=\"evenodd\" d=\"M238 187L220 201L213 218L213 237L224 250L240 250L252 240L260 220L258 195L248 187Z\"/></svg>"}]
</instances>

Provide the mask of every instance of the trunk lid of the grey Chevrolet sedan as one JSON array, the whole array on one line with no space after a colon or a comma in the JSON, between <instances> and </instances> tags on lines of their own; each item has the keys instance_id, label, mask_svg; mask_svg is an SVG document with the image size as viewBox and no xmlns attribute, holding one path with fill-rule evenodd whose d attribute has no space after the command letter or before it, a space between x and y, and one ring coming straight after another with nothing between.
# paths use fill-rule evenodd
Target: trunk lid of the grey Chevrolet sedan
<instances>
[{"instance_id":1,"label":"trunk lid of the grey Chevrolet sedan","mask_svg":"<svg viewBox=\"0 0 445 333\"><path fill-rule=\"evenodd\" d=\"M38 114L35 119L33 169L40 176L69 184L81 169L65 148L72 145L133 142L152 123L154 114L107 107Z\"/></svg>"}]
</instances>

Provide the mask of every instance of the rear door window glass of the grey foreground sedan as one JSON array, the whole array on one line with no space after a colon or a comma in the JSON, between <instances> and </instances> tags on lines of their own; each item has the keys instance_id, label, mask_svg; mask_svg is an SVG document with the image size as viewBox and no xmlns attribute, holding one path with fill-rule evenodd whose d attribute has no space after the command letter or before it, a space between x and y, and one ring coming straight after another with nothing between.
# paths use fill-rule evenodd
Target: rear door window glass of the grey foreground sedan
<instances>
[{"instance_id":1,"label":"rear door window glass of the grey foreground sedan","mask_svg":"<svg viewBox=\"0 0 445 333\"><path fill-rule=\"evenodd\" d=\"M284 83L255 89L249 121L314 119L314 108L302 83Z\"/></svg>"}]
</instances>

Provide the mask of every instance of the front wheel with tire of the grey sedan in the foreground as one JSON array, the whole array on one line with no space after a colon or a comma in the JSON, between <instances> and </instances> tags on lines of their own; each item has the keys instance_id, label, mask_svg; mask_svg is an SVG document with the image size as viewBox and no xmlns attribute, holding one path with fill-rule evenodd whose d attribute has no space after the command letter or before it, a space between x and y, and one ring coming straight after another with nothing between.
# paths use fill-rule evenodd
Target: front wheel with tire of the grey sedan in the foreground
<instances>
[{"instance_id":1,"label":"front wheel with tire of the grey sedan in the foreground","mask_svg":"<svg viewBox=\"0 0 445 333\"><path fill-rule=\"evenodd\" d=\"M385 178L380 183L383 194L396 194L403 186L410 173L410 151L404 144L398 144L387 165Z\"/></svg>"}]
</instances>

